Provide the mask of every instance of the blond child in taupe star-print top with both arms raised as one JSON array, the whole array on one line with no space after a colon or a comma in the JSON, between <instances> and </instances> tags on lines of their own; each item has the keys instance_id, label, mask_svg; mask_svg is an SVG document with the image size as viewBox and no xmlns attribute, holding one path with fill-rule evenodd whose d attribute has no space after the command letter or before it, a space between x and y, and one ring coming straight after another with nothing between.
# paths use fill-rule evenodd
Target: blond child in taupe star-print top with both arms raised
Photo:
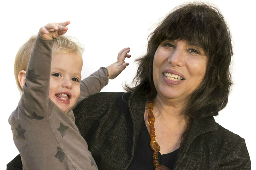
<instances>
[{"instance_id":1,"label":"blond child in taupe star-print top with both arms raised","mask_svg":"<svg viewBox=\"0 0 256 170\"><path fill-rule=\"evenodd\" d=\"M124 62L130 57L129 48L125 48L118 53L116 63L81 81L82 48L60 36L67 32L69 23L49 23L40 28L29 63L22 55L15 59L15 63L23 61L15 69L23 94L9 123L26 170L97 169L75 125L72 108L99 92L129 64ZM29 54L31 44L33 38L20 54Z\"/></svg>"}]
</instances>

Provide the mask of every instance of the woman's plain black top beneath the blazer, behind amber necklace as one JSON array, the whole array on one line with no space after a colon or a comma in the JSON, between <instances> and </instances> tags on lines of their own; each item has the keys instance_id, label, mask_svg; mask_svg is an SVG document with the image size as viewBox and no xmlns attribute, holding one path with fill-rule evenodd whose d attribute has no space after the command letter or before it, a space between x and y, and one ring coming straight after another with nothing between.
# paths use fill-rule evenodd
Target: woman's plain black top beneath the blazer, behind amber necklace
<instances>
[{"instance_id":1,"label":"woman's plain black top beneath the blazer, behind amber necklace","mask_svg":"<svg viewBox=\"0 0 256 170\"><path fill-rule=\"evenodd\" d=\"M134 157L132 159L132 162L130 166L128 167L128 170L134 170L134 169L147 169L147 170L154 170L154 164L153 164L153 158L152 154L153 151L150 147L150 134L148 133L146 124L143 123L141 132L139 135L139 139L137 142L137 147L134 152ZM161 147L161 146L160 146ZM173 169L175 158L179 152L179 149L161 155L160 152L158 152L158 160L160 165L164 165L170 169Z\"/></svg>"}]
</instances>

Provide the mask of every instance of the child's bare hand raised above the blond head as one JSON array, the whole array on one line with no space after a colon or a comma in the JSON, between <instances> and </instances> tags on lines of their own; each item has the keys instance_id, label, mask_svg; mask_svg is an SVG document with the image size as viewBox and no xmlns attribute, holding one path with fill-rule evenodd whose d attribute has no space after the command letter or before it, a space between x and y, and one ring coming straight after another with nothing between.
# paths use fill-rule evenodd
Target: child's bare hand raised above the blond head
<instances>
[{"instance_id":1,"label":"child's bare hand raised above the blond head","mask_svg":"<svg viewBox=\"0 0 256 170\"><path fill-rule=\"evenodd\" d=\"M59 23L48 23L46 26L39 29L39 35L44 39L55 39L68 31L70 21Z\"/></svg>"}]
</instances>

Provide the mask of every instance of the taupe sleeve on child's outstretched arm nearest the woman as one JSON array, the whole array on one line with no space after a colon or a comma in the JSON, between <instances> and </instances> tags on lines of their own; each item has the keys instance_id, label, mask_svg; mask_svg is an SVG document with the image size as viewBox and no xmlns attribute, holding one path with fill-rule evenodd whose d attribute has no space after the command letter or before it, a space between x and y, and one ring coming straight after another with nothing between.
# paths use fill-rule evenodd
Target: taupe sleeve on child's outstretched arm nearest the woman
<instances>
[{"instance_id":1,"label":"taupe sleeve on child's outstretched arm nearest the woman","mask_svg":"<svg viewBox=\"0 0 256 170\"><path fill-rule=\"evenodd\" d=\"M81 81L80 96L74 107L83 99L100 92L100 90L108 83L108 69L106 69L105 67L101 67L99 70L95 71L89 77Z\"/></svg>"}]
</instances>

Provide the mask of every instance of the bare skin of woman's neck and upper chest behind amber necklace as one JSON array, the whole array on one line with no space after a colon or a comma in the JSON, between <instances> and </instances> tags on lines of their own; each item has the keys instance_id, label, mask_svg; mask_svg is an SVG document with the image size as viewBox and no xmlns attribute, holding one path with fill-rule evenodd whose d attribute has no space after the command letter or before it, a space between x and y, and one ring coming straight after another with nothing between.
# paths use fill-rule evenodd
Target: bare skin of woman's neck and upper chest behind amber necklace
<instances>
[{"instance_id":1,"label":"bare skin of woman's neck and upper chest behind amber necklace","mask_svg":"<svg viewBox=\"0 0 256 170\"><path fill-rule=\"evenodd\" d=\"M154 99L153 114L155 117L154 129L156 140L161 147L160 153L170 153L180 147L181 137L186 130L187 123L183 114L184 107L164 103ZM148 123L148 101L145 103L144 120L150 132Z\"/></svg>"}]
</instances>

